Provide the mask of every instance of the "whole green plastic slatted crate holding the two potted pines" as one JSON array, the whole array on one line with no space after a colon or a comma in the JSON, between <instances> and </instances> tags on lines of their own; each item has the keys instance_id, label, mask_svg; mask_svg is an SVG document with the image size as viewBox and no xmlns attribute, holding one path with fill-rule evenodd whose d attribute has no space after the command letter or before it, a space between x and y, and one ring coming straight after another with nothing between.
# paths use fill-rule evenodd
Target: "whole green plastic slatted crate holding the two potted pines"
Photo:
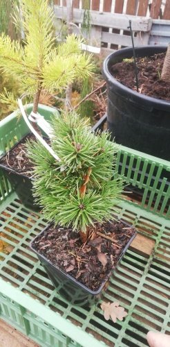
<instances>
[{"instance_id":1,"label":"whole green plastic slatted crate holding the two potted pines","mask_svg":"<svg viewBox=\"0 0 170 347\"><path fill-rule=\"evenodd\" d=\"M46 119L52 110L40 108ZM3 119L0 153L26 133L15 114ZM117 217L153 240L151 255L129 248L111 277L104 297L118 300L128 312L117 323L104 320L100 303L72 306L57 294L28 246L46 221L21 204L0 171L0 235L6 242L6 253L0 252L0 317L40 346L144 347L148 330L170 335L170 164L120 146L116 171L134 187L117 206Z\"/></svg>"}]
</instances>

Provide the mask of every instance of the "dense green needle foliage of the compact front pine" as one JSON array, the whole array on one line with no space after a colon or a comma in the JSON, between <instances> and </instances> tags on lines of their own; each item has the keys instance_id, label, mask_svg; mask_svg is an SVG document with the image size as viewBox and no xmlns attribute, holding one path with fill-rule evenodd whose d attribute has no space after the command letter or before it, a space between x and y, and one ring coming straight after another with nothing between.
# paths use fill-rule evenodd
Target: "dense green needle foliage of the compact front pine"
<instances>
[{"instance_id":1,"label":"dense green needle foliage of the compact front pine","mask_svg":"<svg viewBox=\"0 0 170 347\"><path fill-rule=\"evenodd\" d=\"M75 112L52 121L51 146L57 162L39 142L27 144L34 164L34 195L48 221L86 232L96 222L113 219L122 180L114 178L117 145L108 133L93 133Z\"/></svg>"}]
</instances>

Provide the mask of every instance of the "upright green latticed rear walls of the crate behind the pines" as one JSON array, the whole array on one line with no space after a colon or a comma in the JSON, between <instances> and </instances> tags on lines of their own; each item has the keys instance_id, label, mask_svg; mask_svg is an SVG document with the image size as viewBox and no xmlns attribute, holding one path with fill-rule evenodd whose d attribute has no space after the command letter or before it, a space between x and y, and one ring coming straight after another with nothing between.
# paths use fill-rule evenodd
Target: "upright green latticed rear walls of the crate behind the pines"
<instances>
[{"instance_id":1,"label":"upright green latticed rear walls of the crate behind the pines","mask_svg":"<svg viewBox=\"0 0 170 347\"><path fill-rule=\"evenodd\" d=\"M28 105L28 114L32 105ZM54 108L39 106L39 113L49 120ZM56 110L55 110L56 112ZM97 129L97 125L94 127ZM29 132L23 118L18 121L17 113L13 112L0 122L0 157L24 135ZM140 207L154 214L170 215L170 164L166 160L152 157L144 153L120 146L117 153L117 175L124 175L126 183L138 190ZM0 197L4 187L0 183ZM6 189L5 189L6 190ZM140 194L139 194L140 192ZM138 196L139 197L139 196Z\"/></svg>"}]
</instances>

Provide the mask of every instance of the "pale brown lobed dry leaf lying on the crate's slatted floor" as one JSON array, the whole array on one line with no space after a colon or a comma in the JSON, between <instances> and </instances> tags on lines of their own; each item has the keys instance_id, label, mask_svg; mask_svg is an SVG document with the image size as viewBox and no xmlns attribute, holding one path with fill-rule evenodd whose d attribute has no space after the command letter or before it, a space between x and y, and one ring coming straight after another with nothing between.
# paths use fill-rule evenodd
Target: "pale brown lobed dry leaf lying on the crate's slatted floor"
<instances>
[{"instance_id":1,"label":"pale brown lobed dry leaf lying on the crate's slatted floor","mask_svg":"<svg viewBox=\"0 0 170 347\"><path fill-rule=\"evenodd\" d=\"M116 319L119 319L120 321L122 321L124 319L124 317L126 317L127 312L124 311L124 307L119 306L118 302L114 302L114 303L105 303L103 302L101 304L101 308L104 311L104 318L106 319L106 321L108 321L108 319L112 319L112 321L115 323Z\"/></svg>"}]
</instances>

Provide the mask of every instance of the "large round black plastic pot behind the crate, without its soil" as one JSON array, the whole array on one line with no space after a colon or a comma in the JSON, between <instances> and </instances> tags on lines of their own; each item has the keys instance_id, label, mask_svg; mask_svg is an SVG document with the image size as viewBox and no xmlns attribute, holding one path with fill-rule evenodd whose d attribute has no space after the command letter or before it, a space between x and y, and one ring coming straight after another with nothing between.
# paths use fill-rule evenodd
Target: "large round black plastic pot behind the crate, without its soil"
<instances>
[{"instance_id":1,"label":"large round black plastic pot behind the crate, without its soil","mask_svg":"<svg viewBox=\"0 0 170 347\"><path fill-rule=\"evenodd\" d=\"M135 54L137 57L153 56L166 50L166 46L142 46L135 48ZM132 56L132 49L125 48L104 60L108 130L118 144L170 160L170 101L133 92L111 75L111 67L116 62Z\"/></svg>"}]
</instances>

